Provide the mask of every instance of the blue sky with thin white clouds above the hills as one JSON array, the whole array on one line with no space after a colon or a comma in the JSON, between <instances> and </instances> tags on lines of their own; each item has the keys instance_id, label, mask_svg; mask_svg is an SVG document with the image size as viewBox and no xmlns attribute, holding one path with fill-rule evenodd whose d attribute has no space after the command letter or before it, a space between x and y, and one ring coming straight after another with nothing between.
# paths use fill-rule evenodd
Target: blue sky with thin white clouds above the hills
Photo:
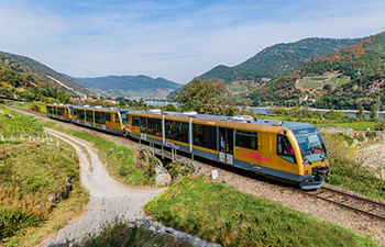
<instances>
[{"instance_id":1,"label":"blue sky with thin white clouds above the hills","mask_svg":"<svg viewBox=\"0 0 385 247\"><path fill-rule=\"evenodd\" d=\"M72 77L187 83L277 43L385 31L384 0L0 0L0 50Z\"/></svg>"}]
</instances>

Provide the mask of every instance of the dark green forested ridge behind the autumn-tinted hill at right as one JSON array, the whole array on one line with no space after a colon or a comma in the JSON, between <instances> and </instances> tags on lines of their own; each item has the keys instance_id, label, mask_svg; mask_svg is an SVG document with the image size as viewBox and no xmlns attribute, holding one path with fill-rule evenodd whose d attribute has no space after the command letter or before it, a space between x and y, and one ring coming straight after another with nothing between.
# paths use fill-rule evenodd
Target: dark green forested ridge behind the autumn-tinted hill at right
<instances>
[{"instance_id":1,"label":"dark green forested ridge behind the autumn-tinted hill at right","mask_svg":"<svg viewBox=\"0 0 385 247\"><path fill-rule=\"evenodd\" d=\"M201 78L215 81L253 81L262 83L297 68L305 63L350 46L359 38L305 38L295 43L276 44L263 49L252 58L234 67L217 66Z\"/></svg>"}]
</instances>

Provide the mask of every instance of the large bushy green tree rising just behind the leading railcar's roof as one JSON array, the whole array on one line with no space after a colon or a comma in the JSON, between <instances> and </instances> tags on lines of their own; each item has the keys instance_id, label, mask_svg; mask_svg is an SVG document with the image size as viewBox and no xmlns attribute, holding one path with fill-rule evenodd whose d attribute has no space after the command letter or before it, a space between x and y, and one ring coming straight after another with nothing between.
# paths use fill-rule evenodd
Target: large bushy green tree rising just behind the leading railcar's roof
<instances>
[{"instance_id":1,"label":"large bushy green tree rising just behind the leading railcar's roof","mask_svg":"<svg viewBox=\"0 0 385 247\"><path fill-rule=\"evenodd\" d=\"M175 99L182 111L195 111L202 114L233 115L239 112L234 102L228 98L224 82L195 78L182 88L182 93Z\"/></svg>"}]
</instances>

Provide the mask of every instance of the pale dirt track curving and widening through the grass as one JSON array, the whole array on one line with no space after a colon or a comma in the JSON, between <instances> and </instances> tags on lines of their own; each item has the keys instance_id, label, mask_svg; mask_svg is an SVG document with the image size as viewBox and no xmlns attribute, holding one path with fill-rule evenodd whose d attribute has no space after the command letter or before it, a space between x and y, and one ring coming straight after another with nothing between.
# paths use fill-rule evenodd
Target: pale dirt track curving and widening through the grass
<instances>
[{"instance_id":1,"label":"pale dirt track curving and widening through the grass","mask_svg":"<svg viewBox=\"0 0 385 247\"><path fill-rule=\"evenodd\" d=\"M67 243L79 240L85 234L97 232L101 224L116 218L141 218L142 206L165 190L127 188L107 173L91 147L68 135L52 130L48 132L76 149L80 161L81 182L90 193L90 202L86 215L59 231L44 246L66 246Z\"/></svg>"}]
</instances>

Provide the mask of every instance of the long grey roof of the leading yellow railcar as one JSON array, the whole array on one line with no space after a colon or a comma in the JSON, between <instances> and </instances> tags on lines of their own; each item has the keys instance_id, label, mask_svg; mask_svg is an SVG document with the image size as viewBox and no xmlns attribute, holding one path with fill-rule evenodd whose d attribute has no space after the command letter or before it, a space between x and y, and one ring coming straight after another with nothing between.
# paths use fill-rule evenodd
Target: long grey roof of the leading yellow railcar
<instances>
[{"instance_id":1,"label":"long grey roof of the leading yellow railcar","mask_svg":"<svg viewBox=\"0 0 385 247\"><path fill-rule=\"evenodd\" d=\"M235 116L224 116L224 115L209 115L209 114L197 114L196 112L161 112L161 111L135 111L134 113L150 113L150 114L161 114L161 115L173 115L173 116L185 116L185 117L197 117L202 120L215 120L215 121L229 121L234 123L251 123L266 126L283 126L289 128L290 131L297 131L302 128L314 128L315 126L309 123L289 122L289 121L277 121L277 120L263 120L252 117L250 115L235 115Z\"/></svg>"}]
</instances>

